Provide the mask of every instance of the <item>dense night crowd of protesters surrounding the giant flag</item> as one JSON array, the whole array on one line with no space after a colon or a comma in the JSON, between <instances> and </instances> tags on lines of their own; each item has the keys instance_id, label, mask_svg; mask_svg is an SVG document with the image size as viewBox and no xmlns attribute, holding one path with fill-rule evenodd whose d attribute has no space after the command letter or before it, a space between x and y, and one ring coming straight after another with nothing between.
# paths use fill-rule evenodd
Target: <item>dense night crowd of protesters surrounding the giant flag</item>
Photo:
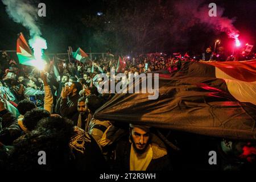
<instances>
[{"instance_id":1,"label":"dense night crowd of protesters surrounding the giant flag","mask_svg":"<svg viewBox=\"0 0 256 182\"><path fill-rule=\"evenodd\" d=\"M210 48L201 56L177 53L170 57L158 53L124 57L126 65L122 72L129 82L131 75L179 71L183 61L232 59L225 57L223 52L213 53ZM97 57L85 63L57 57L47 61L44 71L39 71L18 64L18 60L2 52L0 169L162 171L189 168L192 164L183 158L189 155L198 157L195 161L197 169L216 169L205 164L208 164L208 152L207 156L198 153L199 148L208 151L212 146L221 154L218 169L255 169L254 156L251 155L256 154L255 143L198 139L198 136L177 137L181 146L187 147L177 152L151 127L94 119L95 111L114 96L113 93L98 92L98 84L104 81L99 74L106 73L110 79L110 72L118 68L117 57ZM207 144L202 148L201 143L206 140L210 147ZM250 148L250 159L247 155L241 158L242 146ZM39 151L46 152L46 165L38 163ZM204 160L201 166L200 159ZM191 166L193 168L195 166Z\"/></svg>"}]
</instances>

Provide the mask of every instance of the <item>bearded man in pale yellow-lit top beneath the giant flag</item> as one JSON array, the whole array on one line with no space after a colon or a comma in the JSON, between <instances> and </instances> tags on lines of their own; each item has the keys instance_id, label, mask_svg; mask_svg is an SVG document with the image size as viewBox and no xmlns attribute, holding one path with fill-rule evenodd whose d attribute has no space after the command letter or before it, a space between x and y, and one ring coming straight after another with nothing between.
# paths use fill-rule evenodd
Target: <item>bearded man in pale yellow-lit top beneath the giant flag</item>
<instances>
[{"instance_id":1,"label":"bearded man in pale yellow-lit top beneath the giant flag","mask_svg":"<svg viewBox=\"0 0 256 182\"><path fill-rule=\"evenodd\" d=\"M171 169L167 148L150 127L130 124L129 142L120 139L115 147L116 171L168 171ZM129 144L130 143L130 144Z\"/></svg>"}]
</instances>

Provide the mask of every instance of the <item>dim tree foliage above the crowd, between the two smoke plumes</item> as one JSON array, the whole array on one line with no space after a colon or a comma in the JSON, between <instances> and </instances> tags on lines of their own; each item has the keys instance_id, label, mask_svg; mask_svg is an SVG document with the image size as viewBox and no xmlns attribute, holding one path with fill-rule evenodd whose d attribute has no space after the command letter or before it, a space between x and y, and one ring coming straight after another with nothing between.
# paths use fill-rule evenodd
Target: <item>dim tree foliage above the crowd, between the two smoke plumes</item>
<instances>
[{"instance_id":1,"label":"dim tree foliage above the crowd, between the two smoke plumes","mask_svg":"<svg viewBox=\"0 0 256 182\"><path fill-rule=\"evenodd\" d=\"M115 51L151 51L170 42L173 15L163 1L105 1L103 15L82 22L94 33L95 46ZM169 38L168 38L169 37Z\"/></svg>"}]
</instances>

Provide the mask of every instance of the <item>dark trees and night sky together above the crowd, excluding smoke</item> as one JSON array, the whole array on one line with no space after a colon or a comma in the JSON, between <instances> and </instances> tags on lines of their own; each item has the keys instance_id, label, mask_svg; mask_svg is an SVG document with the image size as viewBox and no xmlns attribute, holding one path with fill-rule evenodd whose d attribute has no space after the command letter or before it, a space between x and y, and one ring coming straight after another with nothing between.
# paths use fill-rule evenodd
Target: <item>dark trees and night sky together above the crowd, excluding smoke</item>
<instances>
[{"instance_id":1,"label":"dark trees and night sky together above the crowd, excluding smoke","mask_svg":"<svg viewBox=\"0 0 256 182\"><path fill-rule=\"evenodd\" d=\"M68 46L81 47L85 52L201 52L214 46L218 38L224 47L230 42L225 33L212 30L189 16L189 4L181 16L175 9L180 1L145 0L86 0L42 1L47 16L38 18L42 36L48 43L48 52L65 52ZM207 6L210 1L199 2ZM234 26L240 38L254 44L256 35L255 1L216 1L225 8L224 16L236 17ZM36 5L36 3L35 3ZM102 13L102 15L97 15ZM28 31L13 22L0 3L0 49L15 49L16 34ZM230 48L229 48L230 49Z\"/></svg>"}]
</instances>

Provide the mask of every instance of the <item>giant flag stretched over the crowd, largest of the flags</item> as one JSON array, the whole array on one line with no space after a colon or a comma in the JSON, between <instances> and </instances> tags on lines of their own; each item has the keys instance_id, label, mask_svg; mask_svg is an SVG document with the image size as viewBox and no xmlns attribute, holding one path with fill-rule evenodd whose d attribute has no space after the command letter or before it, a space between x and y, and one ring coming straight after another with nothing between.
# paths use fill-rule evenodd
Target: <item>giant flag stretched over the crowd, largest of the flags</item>
<instances>
[{"instance_id":1,"label":"giant flag stretched over the crowd, largest of the flags","mask_svg":"<svg viewBox=\"0 0 256 182\"><path fill-rule=\"evenodd\" d=\"M157 75L152 76L153 82ZM141 92L148 89L142 81L125 88L134 90L138 85L139 94L115 94L96 111L94 118L211 137L255 140L256 60L186 61L172 75L159 74L156 100L148 100L153 93Z\"/></svg>"}]
</instances>

